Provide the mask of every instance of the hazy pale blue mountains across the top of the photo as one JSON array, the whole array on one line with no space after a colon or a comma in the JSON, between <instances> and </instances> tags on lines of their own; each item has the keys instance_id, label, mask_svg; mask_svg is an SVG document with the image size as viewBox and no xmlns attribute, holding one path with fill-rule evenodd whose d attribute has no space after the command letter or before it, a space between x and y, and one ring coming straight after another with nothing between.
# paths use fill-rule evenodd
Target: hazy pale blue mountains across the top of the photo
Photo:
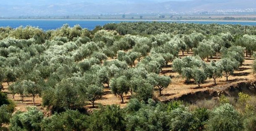
<instances>
[{"instance_id":1,"label":"hazy pale blue mountains across the top of the photo","mask_svg":"<svg viewBox=\"0 0 256 131\"><path fill-rule=\"evenodd\" d=\"M49 1L49 0L48 0ZM82 1L82 2L81 2ZM10 0L0 3L0 17L114 13L201 12L256 8L255 0Z\"/></svg>"}]
</instances>

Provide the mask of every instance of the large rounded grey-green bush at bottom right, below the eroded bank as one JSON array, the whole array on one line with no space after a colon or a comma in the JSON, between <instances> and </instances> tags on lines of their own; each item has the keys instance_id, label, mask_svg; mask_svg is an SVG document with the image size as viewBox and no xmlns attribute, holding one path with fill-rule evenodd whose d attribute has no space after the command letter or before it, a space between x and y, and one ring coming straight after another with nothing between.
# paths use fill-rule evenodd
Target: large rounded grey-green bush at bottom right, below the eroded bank
<instances>
[{"instance_id":1,"label":"large rounded grey-green bush at bottom right, below the eroded bank","mask_svg":"<svg viewBox=\"0 0 256 131\"><path fill-rule=\"evenodd\" d=\"M241 131L242 118L232 105L226 103L212 110L207 128L209 131Z\"/></svg>"}]
</instances>

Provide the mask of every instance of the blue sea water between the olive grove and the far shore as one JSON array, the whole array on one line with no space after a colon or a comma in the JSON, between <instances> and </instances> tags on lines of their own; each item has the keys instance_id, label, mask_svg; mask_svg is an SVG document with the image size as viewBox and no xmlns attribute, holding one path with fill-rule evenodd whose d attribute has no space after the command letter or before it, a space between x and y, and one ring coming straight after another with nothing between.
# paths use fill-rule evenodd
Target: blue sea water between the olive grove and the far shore
<instances>
[{"instance_id":1,"label":"blue sea water between the olive grove and the far shore","mask_svg":"<svg viewBox=\"0 0 256 131\"><path fill-rule=\"evenodd\" d=\"M82 28L88 28L93 30L95 26L103 26L107 23L120 23L120 22L139 22L138 21L120 21L120 20L0 20L0 27L12 27L17 28L19 26L33 26L39 27L43 30L57 29L63 26L63 24L68 24L70 27L74 25L80 25ZM152 22L150 20L145 22ZM196 24L240 24L240 25L252 25L256 26L256 22L246 22L246 21L159 21L159 22L176 22L176 23L196 23Z\"/></svg>"}]
</instances>

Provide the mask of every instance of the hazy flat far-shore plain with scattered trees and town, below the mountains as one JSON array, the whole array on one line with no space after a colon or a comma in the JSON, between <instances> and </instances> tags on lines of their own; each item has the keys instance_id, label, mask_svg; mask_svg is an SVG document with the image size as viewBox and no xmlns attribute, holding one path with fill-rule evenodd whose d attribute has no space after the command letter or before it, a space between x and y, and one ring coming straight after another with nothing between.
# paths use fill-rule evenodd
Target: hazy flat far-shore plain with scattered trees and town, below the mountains
<instances>
[{"instance_id":1,"label":"hazy flat far-shore plain with scattered trees and town, below the mountains","mask_svg":"<svg viewBox=\"0 0 256 131\"><path fill-rule=\"evenodd\" d=\"M17 20L209 20L209 21L256 21L256 8L217 10L214 12L170 12L170 13L113 13L93 15L45 15L0 17Z\"/></svg>"}]
</instances>

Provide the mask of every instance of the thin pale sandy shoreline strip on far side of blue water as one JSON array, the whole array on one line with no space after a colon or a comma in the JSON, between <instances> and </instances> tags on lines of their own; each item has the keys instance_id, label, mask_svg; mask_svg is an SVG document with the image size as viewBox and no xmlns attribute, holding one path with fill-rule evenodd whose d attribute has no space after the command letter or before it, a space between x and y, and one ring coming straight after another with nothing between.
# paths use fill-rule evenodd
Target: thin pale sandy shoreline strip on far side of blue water
<instances>
[{"instance_id":1,"label":"thin pale sandy shoreline strip on far side of blue water","mask_svg":"<svg viewBox=\"0 0 256 131\"><path fill-rule=\"evenodd\" d=\"M127 21L127 22L256 22L256 21L225 21L225 20L147 20L147 19L0 19L0 21Z\"/></svg>"}]
</instances>

